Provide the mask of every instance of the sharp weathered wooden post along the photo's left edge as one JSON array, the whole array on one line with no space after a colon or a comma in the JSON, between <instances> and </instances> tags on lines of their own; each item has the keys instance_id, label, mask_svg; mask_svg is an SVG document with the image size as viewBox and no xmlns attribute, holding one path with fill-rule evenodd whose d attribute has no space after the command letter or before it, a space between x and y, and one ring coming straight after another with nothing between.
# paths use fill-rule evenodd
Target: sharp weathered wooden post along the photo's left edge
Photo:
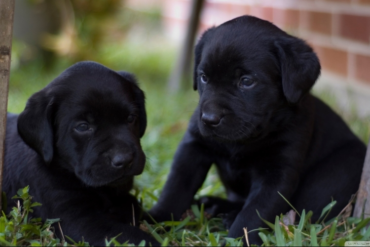
<instances>
[{"instance_id":1,"label":"sharp weathered wooden post along the photo's left edge","mask_svg":"<svg viewBox=\"0 0 370 247\"><path fill-rule=\"evenodd\" d=\"M2 170L4 165L14 3L15 0L0 0L0 193L2 191Z\"/></svg>"}]
</instances>

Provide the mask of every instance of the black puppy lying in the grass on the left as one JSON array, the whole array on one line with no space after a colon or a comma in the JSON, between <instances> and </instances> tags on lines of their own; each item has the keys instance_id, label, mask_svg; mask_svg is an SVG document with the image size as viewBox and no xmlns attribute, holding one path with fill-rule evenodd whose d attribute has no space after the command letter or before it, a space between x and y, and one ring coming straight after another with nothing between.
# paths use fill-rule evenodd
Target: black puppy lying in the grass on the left
<instances>
[{"instance_id":1,"label":"black puppy lying in the grass on the left","mask_svg":"<svg viewBox=\"0 0 370 247\"><path fill-rule=\"evenodd\" d=\"M73 65L35 93L19 116L8 114L8 201L30 185L42 203L34 216L61 218L63 233L75 241L102 246L122 233L120 242L157 245L130 225L140 214L129 191L146 163L140 145L146 126L144 93L133 75L95 62Z\"/></svg>"}]
</instances>

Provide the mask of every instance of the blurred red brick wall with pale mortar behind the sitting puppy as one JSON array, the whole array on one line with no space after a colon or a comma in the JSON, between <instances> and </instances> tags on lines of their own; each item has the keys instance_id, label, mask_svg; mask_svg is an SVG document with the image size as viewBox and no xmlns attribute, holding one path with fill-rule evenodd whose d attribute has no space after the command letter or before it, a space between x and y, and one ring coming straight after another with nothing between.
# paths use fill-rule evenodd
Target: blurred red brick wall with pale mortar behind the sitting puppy
<instances>
[{"instance_id":1,"label":"blurred red brick wall with pale mortar behind the sitting puppy","mask_svg":"<svg viewBox=\"0 0 370 247\"><path fill-rule=\"evenodd\" d=\"M162 4L167 34L181 40L190 0ZM244 14L308 41L324 73L370 88L370 0L206 0L199 32Z\"/></svg>"}]
</instances>

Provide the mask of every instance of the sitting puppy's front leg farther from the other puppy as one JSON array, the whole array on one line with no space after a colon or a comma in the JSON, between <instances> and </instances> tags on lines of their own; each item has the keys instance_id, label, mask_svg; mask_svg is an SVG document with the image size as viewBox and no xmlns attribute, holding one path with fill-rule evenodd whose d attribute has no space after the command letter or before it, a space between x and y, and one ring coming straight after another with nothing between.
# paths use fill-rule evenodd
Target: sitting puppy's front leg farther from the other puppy
<instances>
[{"instance_id":1,"label":"sitting puppy's front leg farther from the other puppy","mask_svg":"<svg viewBox=\"0 0 370 247\"><path fill-rule=\"evenodd\" d=\"M278 194L280 192L288 201L294 194L298 184L298 176L295 170L284 169L280 172L257 177L252 181L251 192L232 223L228 236L238 238L244 235L243 228L248 231L264 227L265 223L259 218L256 210L262 218L274 222L276 215L286 213L290 206ZM262 243L258 235L259 231L248 234L249 243L260 245Z\"/></svg>"}]
</instances>

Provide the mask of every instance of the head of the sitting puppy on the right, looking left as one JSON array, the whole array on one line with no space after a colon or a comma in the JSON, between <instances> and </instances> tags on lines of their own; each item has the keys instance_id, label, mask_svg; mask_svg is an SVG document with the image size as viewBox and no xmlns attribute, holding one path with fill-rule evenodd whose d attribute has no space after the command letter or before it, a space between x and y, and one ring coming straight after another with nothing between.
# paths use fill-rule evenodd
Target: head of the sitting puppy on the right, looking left
<instances>
[{"instance_id":1,"label":"head of the sitting puppy on the right, looking left","mask_svg":"<svg viewBox=\"0 0 370 247\"><path fill-rule=\"evenodd\" d=\"M267 134L320 74L304 41L252 16L207 30L195 47L194 90L204 136L246 141Z\"/></svg>"}]
</instances>

